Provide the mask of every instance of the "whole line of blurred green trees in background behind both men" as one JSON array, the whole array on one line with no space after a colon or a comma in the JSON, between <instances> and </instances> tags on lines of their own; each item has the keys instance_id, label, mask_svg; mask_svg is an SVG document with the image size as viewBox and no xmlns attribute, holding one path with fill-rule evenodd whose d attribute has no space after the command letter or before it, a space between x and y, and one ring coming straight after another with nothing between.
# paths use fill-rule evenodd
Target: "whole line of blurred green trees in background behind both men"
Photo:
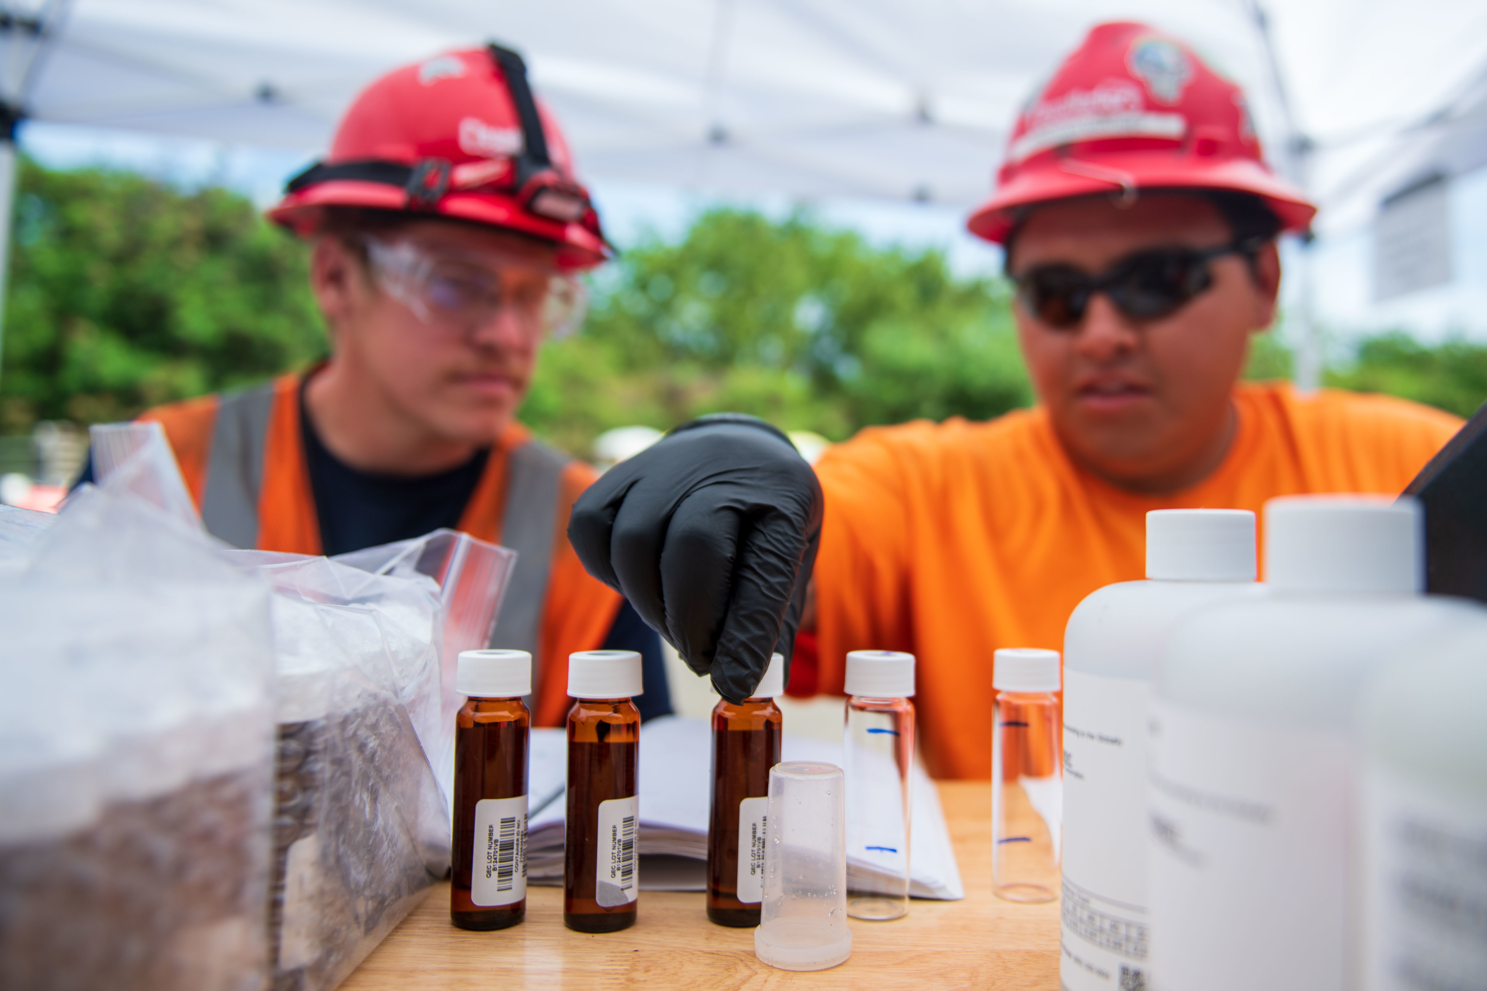
<instances>
[{"instance_id":1,"label":"whole line of blurred green trees in background behind both men","mask_svg":"<svg viewBox=\"0 0 1487 991\"><path fill-rule=\"evenodd\" d=\"M303 245L226 190L22 160L10 266L0 429L123 419L326 349ZM876 248L807 214L714 209L590 282L587 322L544 346L522 410L574 453L611 426L718 410L840 440L1032 398L1001 279L956 278L937 251ZM1291 365L1264 334L1246 374ZM1465 416L1487 398L1487 348L1384 334L1326 380Z\"/></svg>"}]
</instances>

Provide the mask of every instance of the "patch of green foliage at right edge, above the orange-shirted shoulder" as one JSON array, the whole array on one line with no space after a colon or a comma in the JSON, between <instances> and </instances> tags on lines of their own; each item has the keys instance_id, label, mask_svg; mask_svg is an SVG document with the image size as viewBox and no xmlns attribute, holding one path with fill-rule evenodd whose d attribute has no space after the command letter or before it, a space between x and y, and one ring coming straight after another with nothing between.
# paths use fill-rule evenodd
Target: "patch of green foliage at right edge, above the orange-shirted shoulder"
<instances>
[{"instance_id":1,"label":"patch of green foliage at right edge, above the orange-shirted shoulder","mask_svg":"<svg viewBox=\"0 0 1487 991\"><path fill-rule=\"evenodd\" d=\"M1364 340L1350 363L1328 370L1326 383L1471 416L1487 400L1487 348L1460 339L1432 348L1396 330Z\"/></svg>"}]
</instances>

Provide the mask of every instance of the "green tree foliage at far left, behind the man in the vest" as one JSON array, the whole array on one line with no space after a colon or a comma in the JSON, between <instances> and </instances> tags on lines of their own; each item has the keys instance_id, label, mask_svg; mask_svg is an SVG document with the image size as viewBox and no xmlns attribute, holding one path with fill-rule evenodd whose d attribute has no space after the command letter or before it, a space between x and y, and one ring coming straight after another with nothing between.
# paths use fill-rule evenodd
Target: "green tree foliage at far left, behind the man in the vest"
<instances>
[{"instance_id":1,"label":"green tree foliage at far left, behind the man in the vest","mask_svg":"<svg viewBox=\"0 0 1487 991\"><path fill-rule=\"evenodd\" d=\"M228 190L22 159L13 232L6 429L126 419L326 349L303 245Z\"/></svg>"}]
</instances>

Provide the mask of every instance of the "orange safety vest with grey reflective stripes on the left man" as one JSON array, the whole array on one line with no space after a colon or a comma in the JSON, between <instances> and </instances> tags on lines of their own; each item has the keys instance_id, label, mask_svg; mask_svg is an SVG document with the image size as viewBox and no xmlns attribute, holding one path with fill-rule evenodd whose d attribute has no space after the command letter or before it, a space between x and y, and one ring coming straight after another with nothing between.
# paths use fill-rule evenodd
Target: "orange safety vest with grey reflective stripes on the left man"
<instances>
[{"instance_id":1,"label":"orange safety vest with grey reflective stripes on the left man","mask_svg":"<svg viewBox=\"0 0 1487 991\"><path fill-rule=\"evenodd\" d=\"M320 523L300 434L300 376L146 412L165 429L186 487L214 536L242 548L320 554ZM503 431L459 517L459 530L517 551L491 646L535 658L532 721L562 725L568 655L604 645L620 596L592 578L568 544L568 513L598 475Z\"/></svg>"}]
</instances>

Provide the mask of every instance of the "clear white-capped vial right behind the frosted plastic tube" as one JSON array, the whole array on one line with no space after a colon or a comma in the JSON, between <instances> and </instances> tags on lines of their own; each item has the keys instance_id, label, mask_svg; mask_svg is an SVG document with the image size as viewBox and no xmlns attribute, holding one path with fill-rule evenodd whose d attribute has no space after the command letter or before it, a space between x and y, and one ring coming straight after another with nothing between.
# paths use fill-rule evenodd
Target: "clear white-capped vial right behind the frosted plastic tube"
<instances>
[{"instance_id":1,"label":"clear white-capped vial right behind the frosted plastic tube","mask_svg":"<svg viewBox=\"0 0 1487 991\"><path fill-rule=\"evenodd\" d=\"M846 911L852 918L888 921L909 912L915 655L852 651L846 694L846 848L873 868L848 891Z\"/></svg>"}]
</instances>

